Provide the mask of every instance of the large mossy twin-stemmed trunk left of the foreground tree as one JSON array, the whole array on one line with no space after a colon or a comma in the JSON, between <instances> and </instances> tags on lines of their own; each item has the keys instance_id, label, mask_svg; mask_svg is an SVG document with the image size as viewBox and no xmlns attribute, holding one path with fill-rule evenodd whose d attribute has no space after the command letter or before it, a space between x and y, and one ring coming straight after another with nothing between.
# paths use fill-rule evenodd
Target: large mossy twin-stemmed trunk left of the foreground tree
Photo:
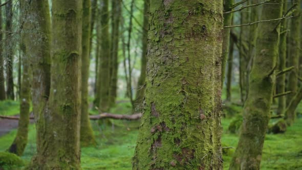
<instances>
[{"instance_id":1,"label":"large mossy twin-stemmed trunk left of the foreground tree","mask_svg":"<svg viewBox=\"0 0 302 170\"><path fill-rule=\"evenodd\" d=\"M52 2L52 48L48 1L26 2L37 131L37 153L27 169L80 169L82 1Z\"/></svg>"}]
</instances>

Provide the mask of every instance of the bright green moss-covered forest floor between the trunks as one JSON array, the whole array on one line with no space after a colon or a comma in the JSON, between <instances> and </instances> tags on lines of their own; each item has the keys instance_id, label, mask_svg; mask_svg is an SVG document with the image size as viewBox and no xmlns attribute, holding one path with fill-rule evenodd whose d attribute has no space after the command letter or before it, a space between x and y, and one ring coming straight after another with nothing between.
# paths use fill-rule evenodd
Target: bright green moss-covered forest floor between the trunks
<instances>
[{"instance_id":1,"label":"bright green moss-covered forest floor between the trunks","mask_svg":"<svg viewBox=\"0 0 302 170\"><path fill-rule=\"evenodd\" d=\"M7 106L9 105L9 106ZM228 132L232 115L240 114L242 108L233 105L233 110L227 112L222 119L224 146L235 147L238 143L238 134ZM4 109L5 108L5 109ZM129 102L120 102L112 113L127 114L131 111ZM230 113L234 112L234 113ZM302 103L298 113L302 112ZM18 113L18 103L9 101L9 104L0 103L0 114L15 115ZM276 120L271 120L271 123ZM111 120L92 121L97 139L97 146L81 148L82 169L132 169L132 157L138 135L139 121ZM1 122L0 122L1 123ZM1 127L0 127L1 128ZM16 130L0 137L0 152L7 150L16 135ZM28 163L35 154L35 125L29 128L29 139L24 155L21 157ZM235 148L223 156L224 169L228 169ZM267 134L265 138L261 169L302 169L302 118L297 118L294 125L284 134Z\"/></svg>"}]
</instances>

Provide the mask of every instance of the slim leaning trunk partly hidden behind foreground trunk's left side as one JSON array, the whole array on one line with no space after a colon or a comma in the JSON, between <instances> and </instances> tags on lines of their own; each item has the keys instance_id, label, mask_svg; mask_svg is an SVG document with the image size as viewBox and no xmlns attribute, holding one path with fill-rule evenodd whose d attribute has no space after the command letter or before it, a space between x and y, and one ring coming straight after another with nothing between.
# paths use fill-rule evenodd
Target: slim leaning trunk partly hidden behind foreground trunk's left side
<instances>
[{"instance_id":1,"label":"slim leaning trunk partly hidden behind foreground trunk's left side","mask_svg":"<svg viewBox=\"0 0 302 170\"><path fill-rule=\"evenodd\" d=\"M150 0L144 1L144 21L143 21L143 39L142 39L142 58L141 58L141 74L138 79L135 104L140 107L145 94L146 66L147 66L147 40L148 40L148 9Z\"/></svg>"}]
</instances>

